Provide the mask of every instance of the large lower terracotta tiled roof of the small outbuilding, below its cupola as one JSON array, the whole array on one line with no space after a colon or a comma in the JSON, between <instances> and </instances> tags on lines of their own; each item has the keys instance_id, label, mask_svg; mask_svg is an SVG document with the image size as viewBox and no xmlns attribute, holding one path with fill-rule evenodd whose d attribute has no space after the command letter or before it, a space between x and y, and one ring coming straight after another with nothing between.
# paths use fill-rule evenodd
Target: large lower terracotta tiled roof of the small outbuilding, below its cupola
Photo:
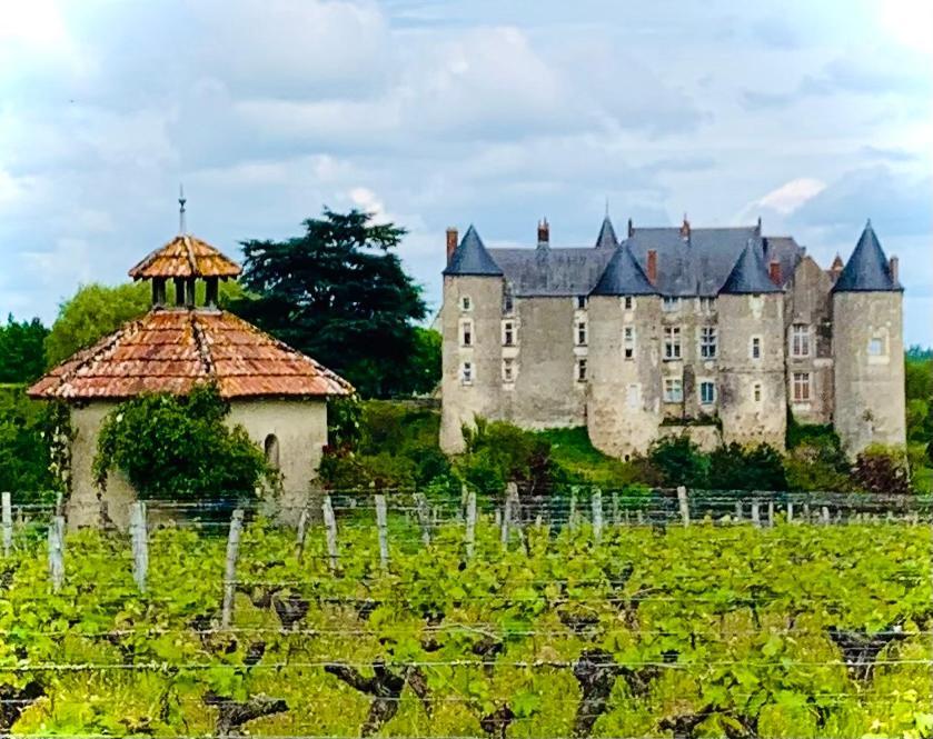
<instances>
[{"instance_id":1,"label":"large lower terracotta tiled roof of the small outbuilding, below its cupola","mask_svg":"<svg viewBox=\"0 0 933 739\"><path fill-rule=\"evenodd\" d=\"M353 392L336 373L232 313L157 309L56 367L29 395L123 399L187 392L209 380L228 399Z\"/></svg>"}]
</instances>

